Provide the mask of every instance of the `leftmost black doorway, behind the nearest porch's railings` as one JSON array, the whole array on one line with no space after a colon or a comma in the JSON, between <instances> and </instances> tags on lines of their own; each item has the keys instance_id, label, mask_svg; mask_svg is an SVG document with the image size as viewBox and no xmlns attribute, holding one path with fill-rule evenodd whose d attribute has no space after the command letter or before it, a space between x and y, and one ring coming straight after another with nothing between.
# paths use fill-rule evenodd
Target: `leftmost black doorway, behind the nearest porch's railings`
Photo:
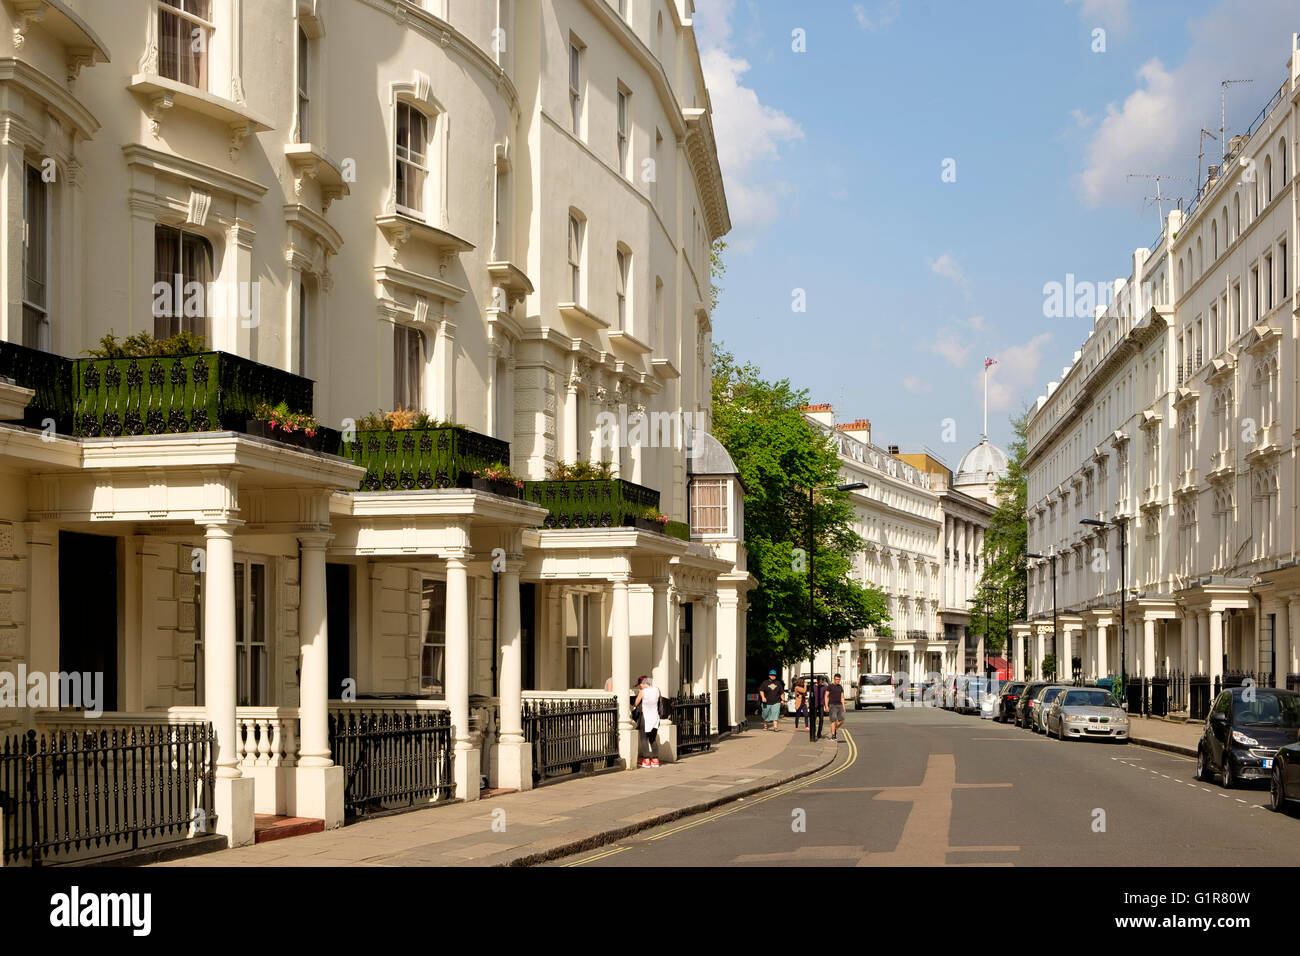
<instances>
[{"instance_id":1,"label":"leftmost black doorway, behind the nearest porch's railings","mask_svg":"<svg viewBox=\"0 0 1300 956\"><path fill-rule=\"evenodd\" d=\"M99 706L117 710L116 537L58 532L58 670L101 674Z\"/></svg>"}]
</instances>

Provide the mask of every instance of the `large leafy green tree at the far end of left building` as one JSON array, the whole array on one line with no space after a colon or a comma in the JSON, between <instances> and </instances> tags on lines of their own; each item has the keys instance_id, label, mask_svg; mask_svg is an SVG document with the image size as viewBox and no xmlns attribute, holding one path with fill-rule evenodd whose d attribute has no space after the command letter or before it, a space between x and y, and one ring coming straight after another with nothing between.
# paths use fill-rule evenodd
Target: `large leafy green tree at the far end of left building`
<instances>
[{"instance_id":1,"label":"large leafy green tree at the far end of left building","mask_svg":"<svg viewBox=\"0 0 1300 956\"><path fill-rule=\"evenodd\" d=\"M714 347L714 436L731 453L745 484L745 548L758 579L750 593L750 670L809 656L809 527L814 528L812 644L824 648L854 630L883 628L888 604L852 578L862 538L853 529L849 493L837 492L838 458L809 427L807 393L766 381L753 364ZM819 489L809 505L809 488ZM829 490L820 490L829 489Z\"/></svg>"}]
</instances>

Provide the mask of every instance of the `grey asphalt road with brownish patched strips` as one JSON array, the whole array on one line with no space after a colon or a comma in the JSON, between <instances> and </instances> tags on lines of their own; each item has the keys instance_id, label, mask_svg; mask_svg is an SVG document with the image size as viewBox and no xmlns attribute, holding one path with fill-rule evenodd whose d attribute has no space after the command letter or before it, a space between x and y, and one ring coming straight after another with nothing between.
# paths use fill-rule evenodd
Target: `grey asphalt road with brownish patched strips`
<instances>
[{"instance_id":1,"label":"grey asphalt road with brownish patched strips","mask_svg":"<svg viewBox=\"0 0 1300 956\"><path fill-rule=\"evenodd\" d=\"M810 778L554 865L1300 865L1300 818L1266 788L1197 782L1191 758L935 708L850 711L848 730Z\"/></svg>"}]
</instances>

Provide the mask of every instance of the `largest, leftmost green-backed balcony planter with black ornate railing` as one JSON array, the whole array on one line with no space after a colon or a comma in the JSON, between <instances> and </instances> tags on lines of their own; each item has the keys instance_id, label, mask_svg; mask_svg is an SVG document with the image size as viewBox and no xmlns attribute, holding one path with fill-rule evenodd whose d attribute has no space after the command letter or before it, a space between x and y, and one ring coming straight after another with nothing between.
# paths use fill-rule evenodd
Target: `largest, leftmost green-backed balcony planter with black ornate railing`
<instances>
[{"instance_id":1,"label":"largest, leftmost green-backed balcony planter with black ornate railing","mask_svg":"<svg viewBox=\"0 0 1300 956\"><path fill-rule=\"evenodd\" d=\"M229 352L75 359L78 437L246 432L260 402L312 410L312 380Z\"/></svg>"}]
</instances>

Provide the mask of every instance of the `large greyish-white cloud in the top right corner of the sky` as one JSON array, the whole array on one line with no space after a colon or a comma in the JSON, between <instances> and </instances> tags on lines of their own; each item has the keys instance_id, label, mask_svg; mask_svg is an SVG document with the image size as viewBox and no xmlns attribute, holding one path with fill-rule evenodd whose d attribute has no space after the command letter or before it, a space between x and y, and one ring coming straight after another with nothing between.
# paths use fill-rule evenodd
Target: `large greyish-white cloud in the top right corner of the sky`
<instances>
[{"instance_id":1,"label":"large greyish-white cloud in the top right corner of the sky","mask_svg":"<svg viewBox=\"0 0 1300 956\"><path fill-rule=\"evenodd\" d=\"M1153 195L1154 183L1127 179L1134 172L1193 178L1201 127L1218 131L1219 81L1254 79L1248 86L1228 87L1231 138L1284 79L1282 64L1290 52L1286 38L1295 27L1295 0L1257 0L1248 17L1232 0L1219 0L1206 16L1191 21L1191 43L1183 61L1166 68L1158 59L1148 60L1138 70L1134 91L1122 103L1106 105L1078 179L1083 200L1095 207ZM1213 140L1206 140L1206 165L1218 160L1214 147ZM1195 190L1191 182L1161 183L1161 194L1175 199L1190 198Z\"/></svg>"}]
</instances>

